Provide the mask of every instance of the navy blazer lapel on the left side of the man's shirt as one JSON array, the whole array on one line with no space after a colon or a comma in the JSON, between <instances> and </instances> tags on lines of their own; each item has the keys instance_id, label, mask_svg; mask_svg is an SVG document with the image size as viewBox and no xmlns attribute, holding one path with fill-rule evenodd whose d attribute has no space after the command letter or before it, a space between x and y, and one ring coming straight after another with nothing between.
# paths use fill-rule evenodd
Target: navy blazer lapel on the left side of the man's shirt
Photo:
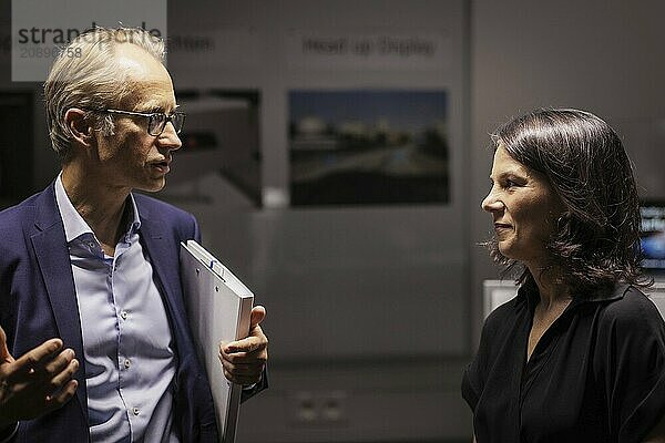
<instances>
[{"instance_id":1,"label":"navy blazer lapel on the left side of the man's shirt","mask_svg":"<svg viewBox=\"0 0 665 443\"><path fill-rule=\"evenodd\" d=\"M53 185L49 186L37 202L35 233L31 236L32 247L39 264L55 324L65 348L76 353L80 369L74 374L79 382L76 396L88 422L88 396L85 391L85 358L74 277L70 264L64 227L55 203Z\"/></svg>"}]
</instances>

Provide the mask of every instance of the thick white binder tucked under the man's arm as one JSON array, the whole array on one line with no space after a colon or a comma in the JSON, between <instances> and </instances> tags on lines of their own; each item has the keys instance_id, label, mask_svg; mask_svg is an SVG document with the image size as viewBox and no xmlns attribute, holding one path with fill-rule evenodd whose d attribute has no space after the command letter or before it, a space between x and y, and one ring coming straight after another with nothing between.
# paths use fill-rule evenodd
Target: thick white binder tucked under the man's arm
<instances>
[{"instance_id":1,"label":"thick white binder tucked under the man's arm","mask_svg":"<svg viewBox=\"0 0 665 443\"><path fill-rule=\"evenodd\" d=\"M211 382L219 439L233 443L243 387L226 380L218 350L221 341L249 334L254 293L196 241L181 243L180 256L187 317Z\"/></svg>"}]
</instances>

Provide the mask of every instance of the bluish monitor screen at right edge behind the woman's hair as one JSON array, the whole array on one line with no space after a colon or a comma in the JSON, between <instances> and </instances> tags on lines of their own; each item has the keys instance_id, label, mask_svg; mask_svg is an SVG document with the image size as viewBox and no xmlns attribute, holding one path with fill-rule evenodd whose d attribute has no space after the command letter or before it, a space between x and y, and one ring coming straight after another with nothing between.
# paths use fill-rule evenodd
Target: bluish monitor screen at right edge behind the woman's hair
<instances>
[{"instance_id":1,"label":"bluish monitor screen at right edge behind the woman's hair","mask_svg":"<svg viewBox=\"0 0 665 443\"><path fill-rule=\"evenodd\" d=\"M646 270L665 271L665 200L642 202L642 266Z\"/></svg>"}]
</instances>

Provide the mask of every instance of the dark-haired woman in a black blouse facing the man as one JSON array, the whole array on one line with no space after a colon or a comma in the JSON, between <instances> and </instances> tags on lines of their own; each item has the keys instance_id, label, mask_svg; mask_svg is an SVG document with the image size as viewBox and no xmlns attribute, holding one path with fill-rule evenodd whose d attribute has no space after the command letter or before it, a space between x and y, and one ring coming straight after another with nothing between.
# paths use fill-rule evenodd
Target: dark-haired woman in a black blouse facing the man
<instances>
[{"instance_id":1,"label":"dark-haired woman in a black blouse facing the man","mask_svg":"<svg viewBox=\"0 0 665 443\"><path fill-rule=\"evenodd\" d=\"M620 138L587 112L541 110L493 141L489 246L520 289L464 373L477 441L665 441L665 324L637 289L638 200Z\"/></svg>"}]
</instances>

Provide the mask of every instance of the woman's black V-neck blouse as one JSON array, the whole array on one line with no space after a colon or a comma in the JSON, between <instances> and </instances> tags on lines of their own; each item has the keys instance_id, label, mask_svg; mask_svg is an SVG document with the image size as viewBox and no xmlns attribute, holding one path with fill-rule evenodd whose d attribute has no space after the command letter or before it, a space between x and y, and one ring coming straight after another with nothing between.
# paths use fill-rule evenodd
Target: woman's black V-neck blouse
<instances>
[{"instance_id":1,"label":"woman's black V-neck blouse","mask_svg":"<svg viewBox=\"0 0 665 443\"><path fill-rule=\"evenodd\" d=\"M574 298L526 362L538 290L487 319L462 396L478 443L641 442L665 413L665 323L640 290Z\"/></svg>"}]
</instances>

